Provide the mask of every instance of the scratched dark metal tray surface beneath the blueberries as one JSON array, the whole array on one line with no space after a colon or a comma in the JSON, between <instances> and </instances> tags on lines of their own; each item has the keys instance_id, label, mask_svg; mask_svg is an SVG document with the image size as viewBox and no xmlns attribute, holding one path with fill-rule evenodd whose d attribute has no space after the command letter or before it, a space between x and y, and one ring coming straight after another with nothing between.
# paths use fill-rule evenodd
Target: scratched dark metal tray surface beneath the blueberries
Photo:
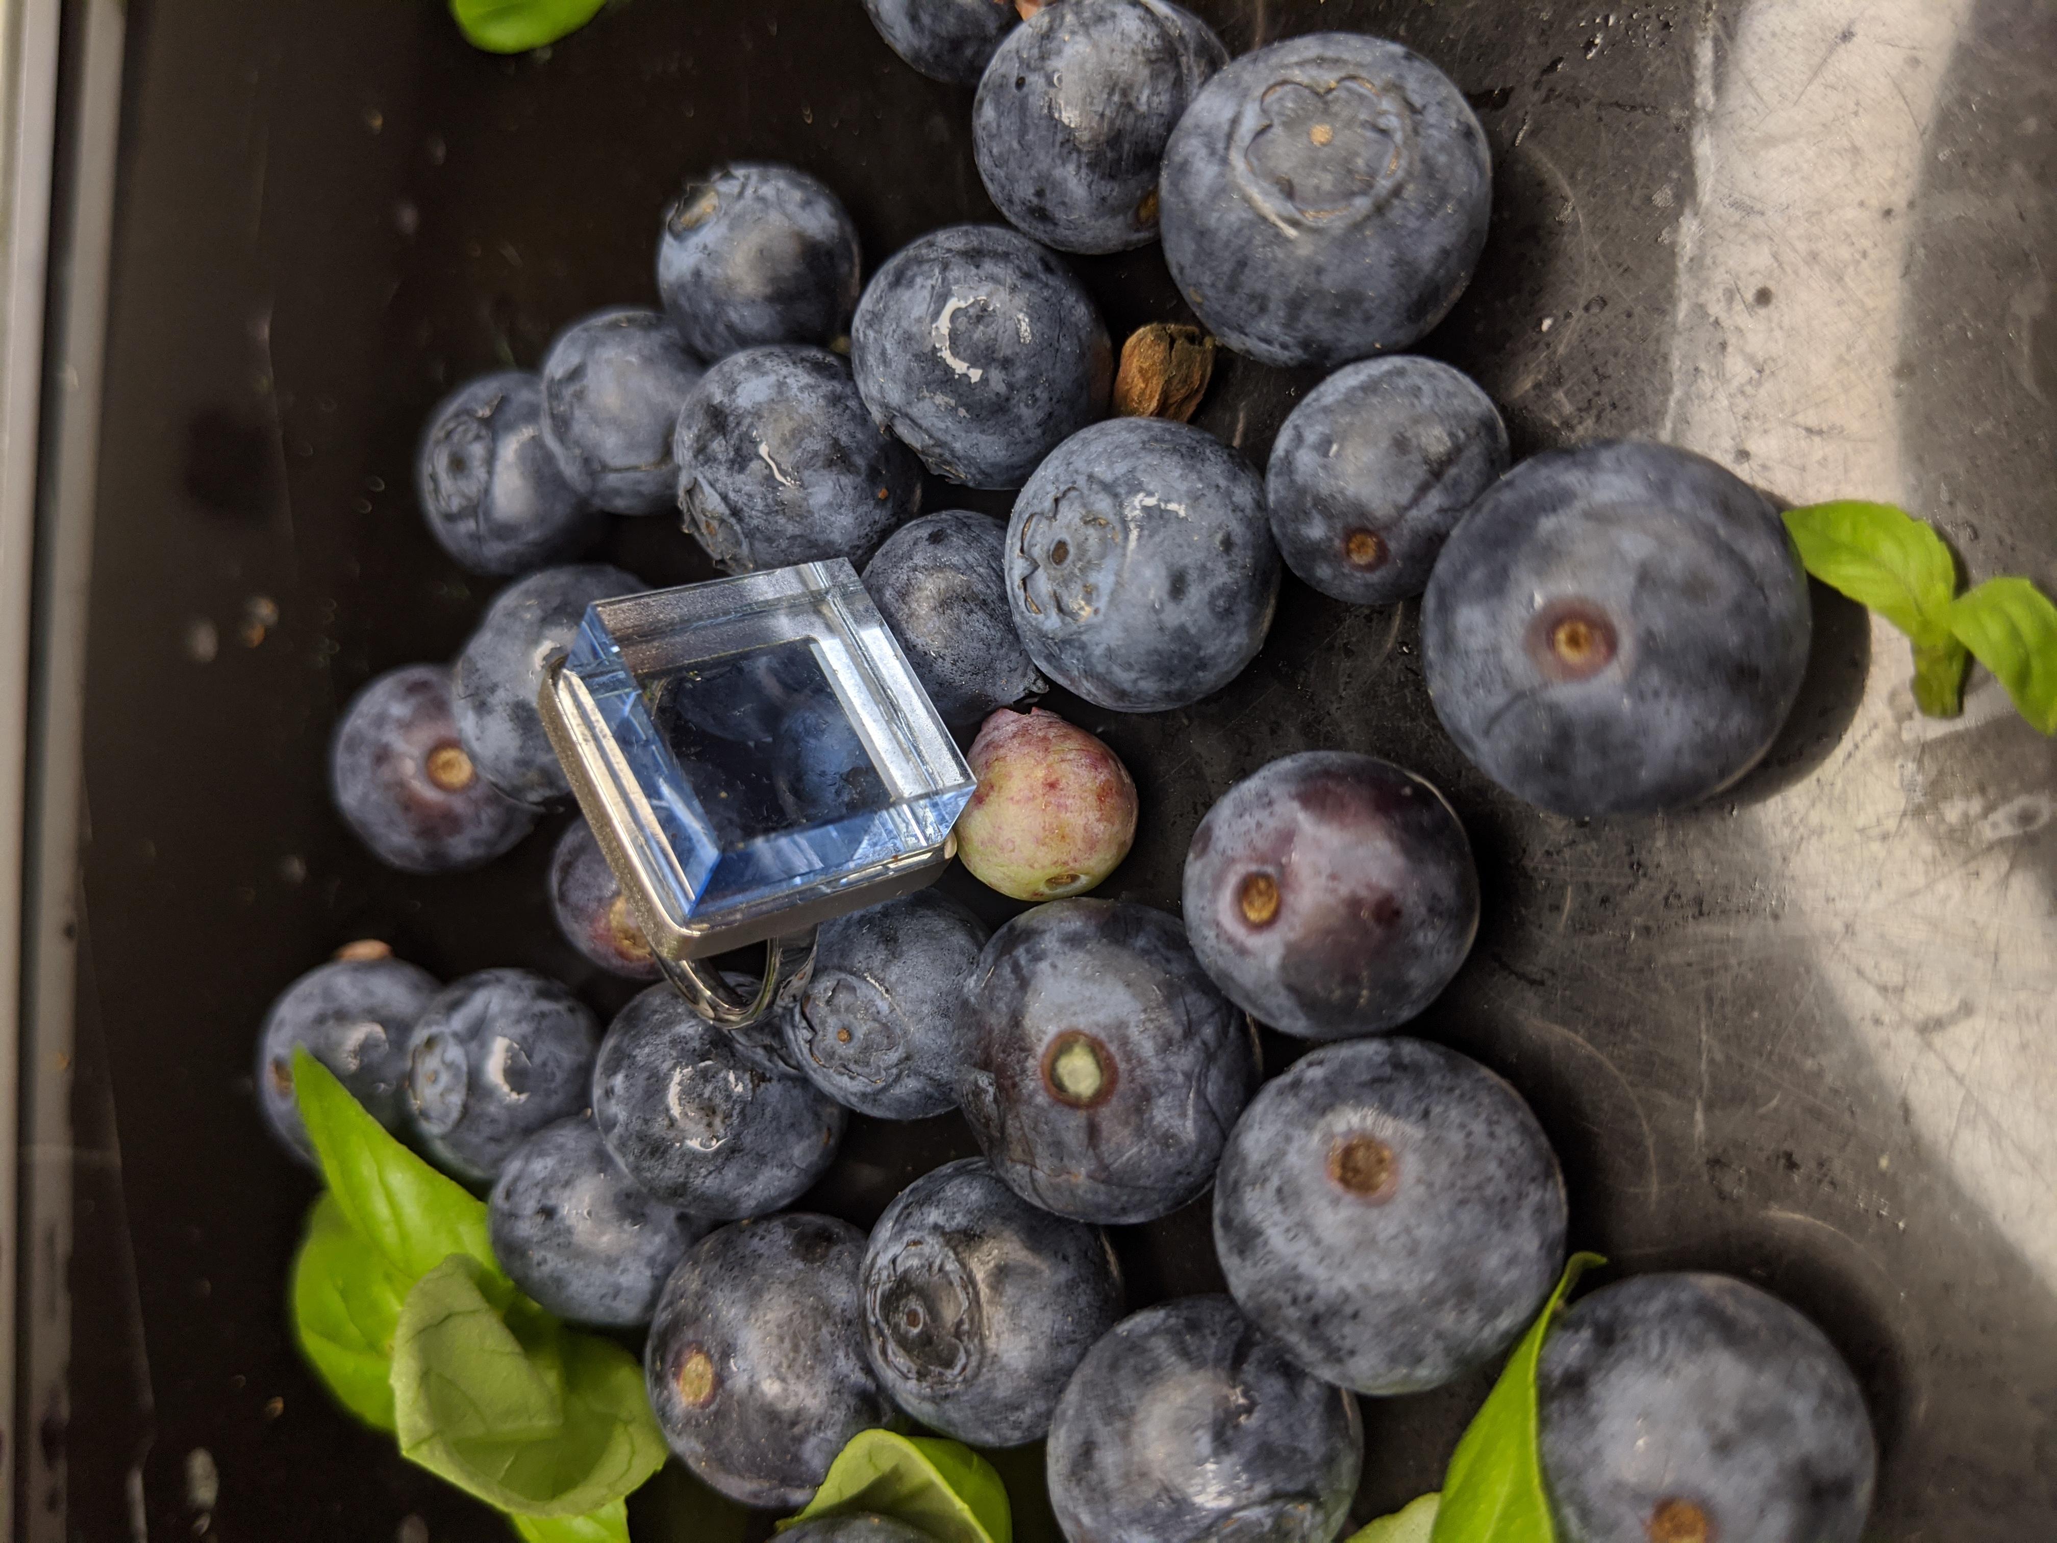
<instances>
[{"instance_id":1,"label":"scratched dark metal tray surface beneath the blueberries","mask_svg":"<svg viewBox=\"0 0 2057 1543\"><path fill-rule=\"evenodd\" d=\"M1485 383L1518 448L1668 434L1796 502L1907 500L1973 578L2057 588L2057 4L1199 10L1236 51L1395 35L1473 95L1497 220L1426 350ZM78 1339L70 1420L41 1430L68 1479L29 1500L91 1539L202 1520L230 1539L498 1539L298 1366L280 1294L309 1181L265 1142L247 1078L272 994L366 932L442 975L525 963L601 1008L623 996L549 928L555 827L483 874L403 881L327 811L337 706L381 669L448 656L488 595L420 529L413 434L457 379L533 364L566 319L648 298L662 200L720 156L815 169L874 259L989 218L969 93L901 68L854 0L636 0L508 64L471 56L432 4L134 0L130 25ZM1179 315L1154 249L1080 272L1117 331ZM1300 387L1230 366L1203 422L1261 459ZM706 572L666 521L621 523L605 551L652 582ZM278 609L261 638L245 634L259 597ZM1903 646L1831 597L1816 609L1802 708L1732 798L1574 825L1458 761L1413 607L1290 586L1220 697L1162 718L1078 708L1144 796L1109 891L1175 905L1193 823L1273 755L1362 747L1428 774L1473 831L1487 901L1421 1029L1535 1103L1576 1243L1631 1269L1734 1269L1812 1313L1884 1442L1876 1539L2049 1537L2057 751L1983 679L1964 718L1915 718ZM868 1220L965 1150L954 1119L862 1125L819 1204ZM1203 1206L1125 1234L1138 1298L1214 1288L1205 1239ZM1479 1393L1366 1405L1360 1518L1436 1483ZM689 1485L660 1487L640 1539L732 1535ZM1047 1535L1022 1490L1024 1537Z\"/></svg>"}]
</instances>

